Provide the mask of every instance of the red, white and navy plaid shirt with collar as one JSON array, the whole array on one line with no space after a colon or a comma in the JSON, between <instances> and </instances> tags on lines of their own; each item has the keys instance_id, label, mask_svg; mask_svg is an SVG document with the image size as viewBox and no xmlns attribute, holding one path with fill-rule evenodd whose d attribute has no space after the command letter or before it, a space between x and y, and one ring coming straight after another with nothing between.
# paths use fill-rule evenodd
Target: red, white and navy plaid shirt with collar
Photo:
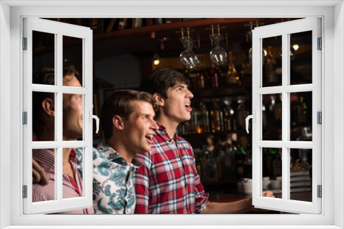
<instances>
[{"instance_id":1,"label":"red, white and navy plaid shirt with collar","mask_svg":"<svg viewBox=\"0 0 344 229\"><path fill-rule=\"evenodd\" d=\"M135 213L194 214L208 204L208 193L200 182L191 145L176 136L178 147L166 128L153 138L150 152L136 154L142 166L133 176L136 190Z\"/></svg>"}]
</instances>

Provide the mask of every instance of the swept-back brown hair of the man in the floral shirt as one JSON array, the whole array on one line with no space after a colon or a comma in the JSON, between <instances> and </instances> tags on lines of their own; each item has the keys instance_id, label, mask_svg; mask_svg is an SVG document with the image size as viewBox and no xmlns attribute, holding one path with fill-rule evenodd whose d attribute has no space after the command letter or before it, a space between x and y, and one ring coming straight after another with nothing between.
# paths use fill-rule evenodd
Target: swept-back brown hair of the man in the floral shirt
<instances>
[{"instance_id":1,"label":"swept-back brown hair of the man in the floral shirt","mask_svg":"<svg viewBox=\"0 0 344 229\"><path fill-rule=\"evenodd\" d=\"M112 118L116 115L122 119L129 119L129 116L134 112L133 101L146 101L156 110L155 99L149 93L135 90L117 90L111 93L105 99L101 112L101 124L105 140L112 136Z\"/></svg>"}]
</instances>

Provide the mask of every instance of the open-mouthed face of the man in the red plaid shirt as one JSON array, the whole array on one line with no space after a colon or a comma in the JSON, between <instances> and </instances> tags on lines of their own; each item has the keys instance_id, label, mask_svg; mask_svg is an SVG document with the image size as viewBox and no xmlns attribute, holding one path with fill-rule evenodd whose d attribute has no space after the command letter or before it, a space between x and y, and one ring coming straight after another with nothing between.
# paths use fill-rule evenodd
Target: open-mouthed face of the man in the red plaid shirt
<instances>
[{"instance_id":1,"label":"open-mouthed face of the man in the red plaid shirt","mask_svg":"<svg viewBox=\"0 0 344 229\"><path fill-rule=\"evenodd\" d=\"M185 83L176 83L167 90L167 99L164 99L164 114L170 120L181 123L191 119L191 99L193 93Z\"/></svg>"}]
</instances>

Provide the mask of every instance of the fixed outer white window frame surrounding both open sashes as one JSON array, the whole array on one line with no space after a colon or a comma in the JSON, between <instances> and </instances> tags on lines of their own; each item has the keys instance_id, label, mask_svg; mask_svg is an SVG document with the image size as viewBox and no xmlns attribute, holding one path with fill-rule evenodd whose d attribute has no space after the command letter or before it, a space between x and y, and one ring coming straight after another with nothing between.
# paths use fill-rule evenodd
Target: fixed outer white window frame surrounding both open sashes
<instances>
[{"instance_id":1,"label":"fixed outer white window frame surrounding both open sashes","mask_svg":"<svg viewBox=\"0 0 344 229\"><path fill-rule=\"evenodd\" d=\"M95 221L111 228L343 228L344 227L344 8L343 1L6 1L0 2L0 147L1 147L1 228L61 228L87 226L97 228ZM42 6L43 4L47 4ZM52 6L54 4L54 6ZM68 4L69 6L66 6ZM80 6L87 4L91 6ZM316 4L316 5L312 5ZM40 7L30 7L30 5ZM60 6L56 6L60 5ZM71 7L76 5L78 7ZM103 7L94 7L103 5ZM191 7L192 6L192 7ZM283 7L281 7L283 6ZM323 213L321 215L116 215L116 216L50 216L22 215L22 71L21 21L24 16L37 17L304 17L323 19ZM334 20L335 19L335 20ZM335 49L334 49L335 47ZM4 53L3 50L7 51ZM8 58L10 56L10 58ZM8 77L10 75L10 77ZM10 88L10 89L8 89ZM10 99L8 99L10 94ZM333 106L336 103L336 106ZM336 125L334 125L336 119ZM8 121L10 120L10 121ZM8 136L10 130L10 136ZM7 143L7 145L6 145ZM10 144L8 144L10 143ZM9 153L10 152L10 153ZM8 176L10 171L10 176ZM18 179L20 178L20 179ZM336 194L334 196L334 194ZM9 198L10 197L10 198ZM335 198L335 199L334 199ZM10 209L10 210L9 210ZM160 225L160 226L159 226ZM201 225L201 226L195 226ZM100 224L98 224L100 226ZM168 228L165 226L165 228ZM169 227L171 228L171 227Z\"/></svg>"}]
</instances>

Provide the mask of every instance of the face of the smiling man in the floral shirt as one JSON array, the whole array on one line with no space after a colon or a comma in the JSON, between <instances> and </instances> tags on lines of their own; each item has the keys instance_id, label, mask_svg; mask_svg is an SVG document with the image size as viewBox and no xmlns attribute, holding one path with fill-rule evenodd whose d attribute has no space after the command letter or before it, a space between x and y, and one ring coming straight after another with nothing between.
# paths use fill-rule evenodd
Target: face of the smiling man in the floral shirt
<instances>
[{"instance_id":1,"label":"face of the smiling man in the floral shirt","mask_svg":"<svg viewBox=\"0 0 344 229\"><path fill-rule=\"evenodd\" d=\"M151 150L152 137L155 135L158 125L154 121L155 112L153 106L146 101L133 101L133 112L129 119L123 121L122 132L128 152L138 154Z\"/></svg>"}]
</instances>

